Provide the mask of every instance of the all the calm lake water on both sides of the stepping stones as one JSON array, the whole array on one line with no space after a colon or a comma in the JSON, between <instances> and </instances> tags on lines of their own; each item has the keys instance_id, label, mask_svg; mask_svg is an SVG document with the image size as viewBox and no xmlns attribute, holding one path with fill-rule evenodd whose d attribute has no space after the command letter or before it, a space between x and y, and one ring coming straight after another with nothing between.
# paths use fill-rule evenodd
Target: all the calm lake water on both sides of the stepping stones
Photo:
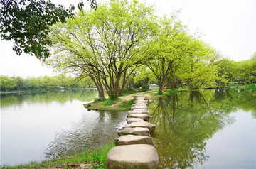
<instances>
[{"instance_id":1,"label":"all the calm lake water on both sides of the stepping stones","mask_svg":"<svg viewBox=\"0 0 256 169\"><path fill-rule=\"evenodd\" d=\"M1 165L114 140L127 112L87 111L97 92L1 96ZM256 168L256 91L181 92L149 104L159 168Z\"/></svg>"}]
</instances>

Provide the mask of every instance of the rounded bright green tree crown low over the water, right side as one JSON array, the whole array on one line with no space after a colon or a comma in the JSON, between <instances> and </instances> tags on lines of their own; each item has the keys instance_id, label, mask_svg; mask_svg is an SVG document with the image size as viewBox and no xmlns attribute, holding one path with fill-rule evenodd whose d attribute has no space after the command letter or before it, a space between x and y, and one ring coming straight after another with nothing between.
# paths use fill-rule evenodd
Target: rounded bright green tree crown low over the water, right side
<instances>
[{"instance_id":1,"label":"rounded bright green tree crown low over the water, right side","mask_svg":"<svg viewBox=\"0 0 256 169\"><path fill-rule=\"evenodd\" d=\"M200 40L194 40L189 45L185 62L178 69L178 77L190 89L212 86L218 77L218 70L212 63L218 59L215 50Z\"/></svg>"}]
</instances>

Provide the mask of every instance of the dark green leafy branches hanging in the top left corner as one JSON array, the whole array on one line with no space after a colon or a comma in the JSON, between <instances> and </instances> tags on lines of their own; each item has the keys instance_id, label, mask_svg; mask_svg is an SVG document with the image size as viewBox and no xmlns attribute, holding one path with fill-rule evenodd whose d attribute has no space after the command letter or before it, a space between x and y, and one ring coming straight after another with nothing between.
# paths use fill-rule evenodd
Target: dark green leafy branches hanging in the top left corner
<instances>
[{"instance_id":1,"label":"dark green leafy branches hanging in the top left corner","mask_svg":"<svg viewBox=\"0 0 256 169\"><path fill-rule=\"evenodd\" d=\"M95 0L90 6L97 8ZM63 5L55 5L50 0L1 0L0 1L0 34L3 40L14 40L13 50L18 55L24 53L36 55L36 58L48 58L48 38L50 26L57 22L65 22L65 18L74 16L75 7L65 9ZM83 2L78 4L82 10Z\"/></svg>"}]
</instances>

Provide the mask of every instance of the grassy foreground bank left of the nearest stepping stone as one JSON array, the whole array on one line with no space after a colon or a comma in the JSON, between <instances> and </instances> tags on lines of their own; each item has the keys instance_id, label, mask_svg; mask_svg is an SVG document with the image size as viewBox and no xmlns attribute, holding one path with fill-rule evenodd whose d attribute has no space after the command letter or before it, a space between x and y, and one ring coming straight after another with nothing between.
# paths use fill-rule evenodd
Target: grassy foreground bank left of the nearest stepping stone
<instances>
[{"instance_id":1,"label":"grassy foreground bank left of the nearest stepping stone","mask_svg":"<svg viewBox=\"0 0 256 169\"><path fill-rule=\"evenodd\" d=\"M80 168L90 164L90 168L106 168L107 153L114 147L114 143L108 143L93 151L84 151L74 156L44 160L41 163L31 162L25 165L3 166L1 168Z\"/></svg>"}]
</instances>

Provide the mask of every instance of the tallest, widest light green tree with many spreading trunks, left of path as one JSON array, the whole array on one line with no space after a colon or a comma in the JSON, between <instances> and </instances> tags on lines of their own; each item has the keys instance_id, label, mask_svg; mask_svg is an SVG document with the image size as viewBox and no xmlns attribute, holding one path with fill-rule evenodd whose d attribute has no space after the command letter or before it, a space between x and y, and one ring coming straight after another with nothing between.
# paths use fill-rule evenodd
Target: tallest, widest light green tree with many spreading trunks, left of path
<instances>
[{"instance_id":1,"label":"tallest, widest light green tree with many spreading trunks, left of path","mask_svg":"<svg viewBox=\"0 0 256 169\"><path fill-rule=\"evenodd\" d=\"M48 65L91 77L99 96L115 99L144 60L142 46L156 28L154 10L138 1L110 1L53 26L55 56ZM102 88L102 89L101 89Z\"/></svg>"}]
</instances>

